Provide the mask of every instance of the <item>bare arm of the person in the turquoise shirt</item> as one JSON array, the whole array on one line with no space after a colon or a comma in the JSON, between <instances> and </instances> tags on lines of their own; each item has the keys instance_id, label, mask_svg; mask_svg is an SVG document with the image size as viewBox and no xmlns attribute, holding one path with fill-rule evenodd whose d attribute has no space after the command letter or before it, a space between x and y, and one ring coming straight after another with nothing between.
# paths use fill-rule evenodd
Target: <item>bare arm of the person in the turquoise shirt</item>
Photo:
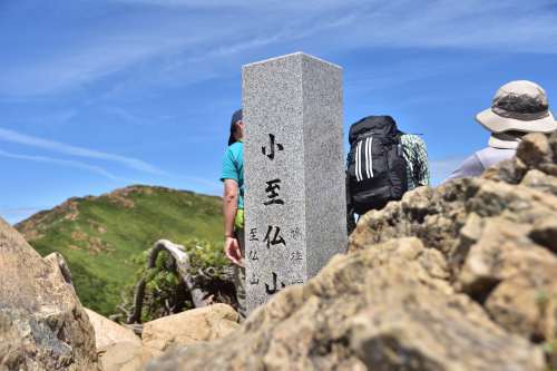
<instances>
[{"instance_id":1,"label":"bare arm of the person in the turquoise shirt","mask_svg":"<svg viewBox=\"0 0 557 371\"><path fill-rule=\"evenodd\" d=\"M237 265L241 265L242 254L234 236L234 219L238 208L238 184L234 179L224 179L223 215L224 215L224 252Z\"/></svg>"}]
</instances>

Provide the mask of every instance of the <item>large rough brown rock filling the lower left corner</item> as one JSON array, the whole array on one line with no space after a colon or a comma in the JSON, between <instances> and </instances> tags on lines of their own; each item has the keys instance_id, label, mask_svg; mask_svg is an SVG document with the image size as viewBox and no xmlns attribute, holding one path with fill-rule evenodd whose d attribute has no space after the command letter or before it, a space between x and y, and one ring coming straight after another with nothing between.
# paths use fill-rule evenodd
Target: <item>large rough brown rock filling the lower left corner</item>
<instances>
[{"instance_id":1,"label":"large rough brown rock filling the lower left corner","mask_svg":"<svg viewBox=\"0 0 557 371\"><path fill-rule=\"evenodd\" d=\"M1 370L99 370L92 326L57 261L0 219Z\"/></svg>"}]
</instances>

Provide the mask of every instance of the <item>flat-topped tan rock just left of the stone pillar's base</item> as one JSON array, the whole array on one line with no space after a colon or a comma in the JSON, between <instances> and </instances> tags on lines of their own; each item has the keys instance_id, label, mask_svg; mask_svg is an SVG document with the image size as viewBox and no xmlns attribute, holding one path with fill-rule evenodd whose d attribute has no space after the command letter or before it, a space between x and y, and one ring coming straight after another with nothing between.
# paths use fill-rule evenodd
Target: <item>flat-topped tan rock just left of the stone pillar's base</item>
<instances>
[{"instance_id":1,"label":"flat-topped tan rock just left of the stone pillar's base","mask_svg":"<svg viewBox=\"0 0 557 371\"><path fill-rule=\"evenodd\" d=\"M159 355L176 345L226 336L240 326L238 322L238 313L222 303L147 322L141 333L146 358Z\"/></svg>"}]
</instances>

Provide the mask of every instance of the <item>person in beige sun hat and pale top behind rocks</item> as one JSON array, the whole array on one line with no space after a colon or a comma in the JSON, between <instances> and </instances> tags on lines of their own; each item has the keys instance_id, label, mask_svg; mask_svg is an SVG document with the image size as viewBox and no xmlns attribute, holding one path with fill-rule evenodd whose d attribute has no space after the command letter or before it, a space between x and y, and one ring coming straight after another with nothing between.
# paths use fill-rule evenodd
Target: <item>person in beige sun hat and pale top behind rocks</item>
<instances>
[{"instance_id":1,"label":"person in beige sun hat and pale top behind rocks","mask_svg":"<svg viewBox=\"0 0 557 371\"><path fill-rule=\"evenodd\" d=\"M549 110L546 91L526 80L511 81L497 90L488 108L476 120L491 133L488 147L465 159L447 179L478 176L485 169L512 158L528 133L551 133L557 123Z\"/></svg>"}]
</instances>

